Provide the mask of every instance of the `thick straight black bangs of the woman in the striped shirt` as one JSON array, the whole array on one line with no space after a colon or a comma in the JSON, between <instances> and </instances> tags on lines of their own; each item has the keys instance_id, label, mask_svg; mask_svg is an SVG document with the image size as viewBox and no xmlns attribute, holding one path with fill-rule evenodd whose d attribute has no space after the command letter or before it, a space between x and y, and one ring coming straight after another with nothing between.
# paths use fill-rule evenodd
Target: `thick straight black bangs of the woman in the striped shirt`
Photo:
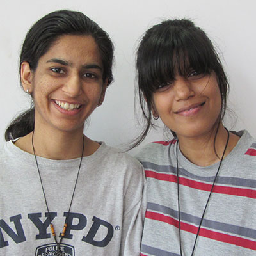
<instances>
[{"instance_id":1,"label":"thick straight black bangs of the woman in the striped shirt","mask_svg":"<svg viewBox=\"0 0 256 256\"><path fill-rule=\"evenodd\" d=\"M155 92L159 84L173 81L177 74L187 77L192 70L209 74L216 66L216 52L204 31L166 29L151 35L147 44L138 49L138 82L147 86L145 91L150 93Z\"/></svg>"}]
</instances>

